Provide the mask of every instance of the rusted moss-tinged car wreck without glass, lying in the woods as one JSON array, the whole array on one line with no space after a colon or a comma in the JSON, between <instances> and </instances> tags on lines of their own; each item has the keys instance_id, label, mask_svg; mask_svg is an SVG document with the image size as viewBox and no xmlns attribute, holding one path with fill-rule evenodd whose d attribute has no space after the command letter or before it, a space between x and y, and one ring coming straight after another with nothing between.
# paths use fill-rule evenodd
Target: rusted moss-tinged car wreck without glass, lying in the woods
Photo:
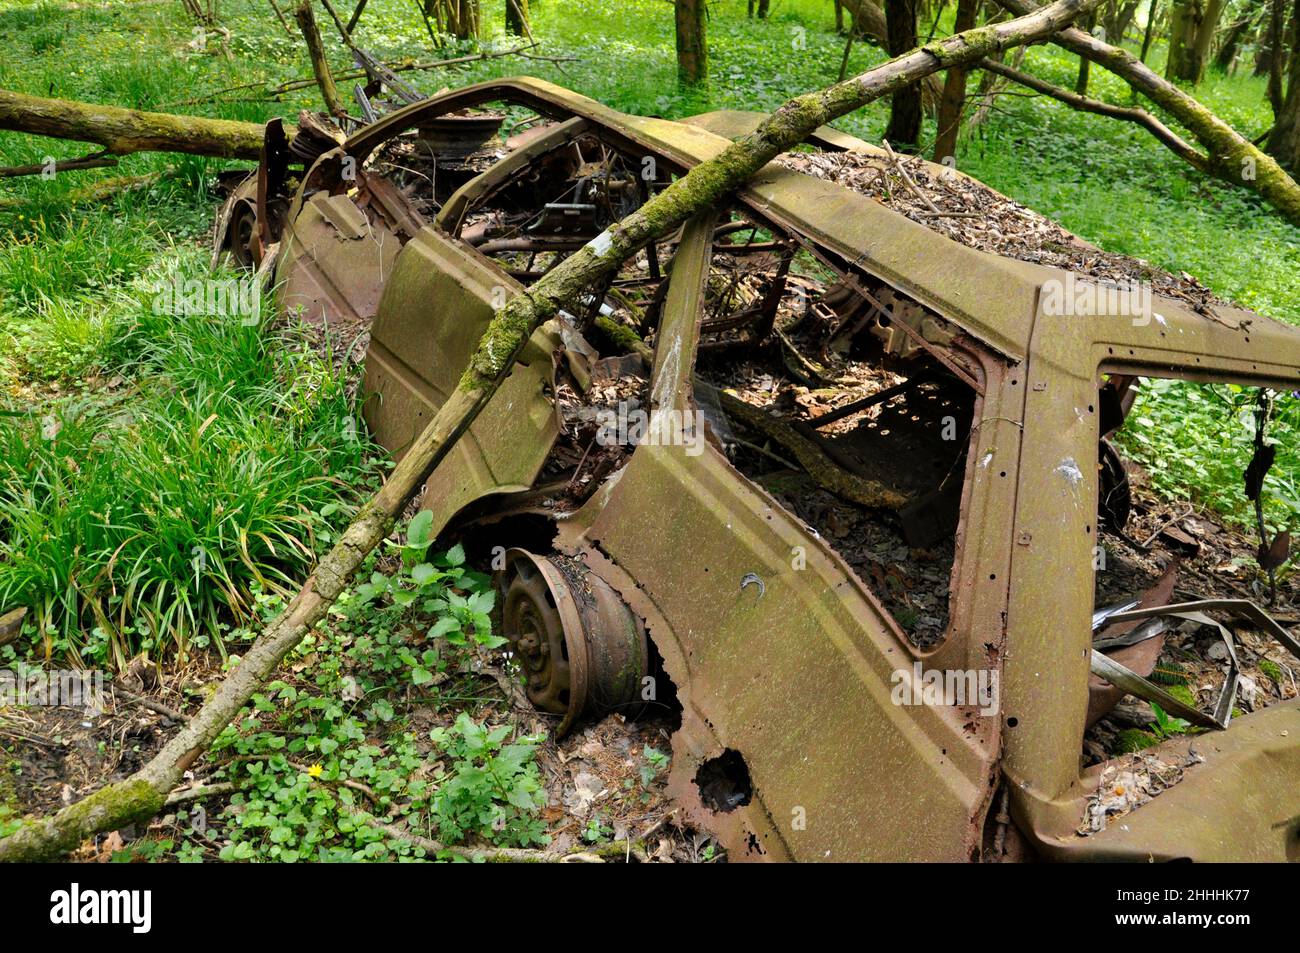
<instances>
[{"instance_id":1,"label":"rusted moss-tinged car wreck without glass, lying in the woods","mask_svg":"<svg viewBox=\"0 0 1300 953\"><path fill-rule=\"evenodd\" d=\"M316 150L273 126L218 247L369 330L367 421L400 455L494 307L753 122L520 78ZM892 161L809 146L540 329L429 480L443 537L500 572L529 699L563 732L675 696L671 790L732 859L1300 858L1295 699L1148 749L1187 768L1122 823L1089 828L1114 766L1080 768L1123 693L1095 638L1124 647L1171 588L1097 595L1127 517L1105 436L1139 377L1296 389L1300 333L1158 286L1062 308L1091 280L805 174ZM931 699L953 672L971 692Z\"/></svg>"}]
</instances>

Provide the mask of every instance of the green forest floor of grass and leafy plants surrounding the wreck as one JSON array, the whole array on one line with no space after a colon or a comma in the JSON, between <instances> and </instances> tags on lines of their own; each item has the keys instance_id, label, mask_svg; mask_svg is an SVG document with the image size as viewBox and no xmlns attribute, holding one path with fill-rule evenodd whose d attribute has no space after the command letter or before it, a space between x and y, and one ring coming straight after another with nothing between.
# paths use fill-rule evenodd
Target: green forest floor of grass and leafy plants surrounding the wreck
<instances>
[{"instance_id":1,"label":"green forest floor of grass and leafy plants surrounding the wreck","mask_svg":"<svg viewBox=\"0 0 1300 953\"><path fill-rule=\"evenodd\" d=\"M261 95L264 86L309 75L300 38L285 33L264 3L226 0L221 8L229 39L194 33L179 4L165 0L5 4L0 87L250 121L317 108L312 86ZM534 9L537 52L576 59L503 57L406 78L436 92L529 73L618 109L670 118L768 109L835 79L844 39L831 29L829 4L780 0L766 22L746 20L740 3L715 8L712 81L703 90L676 85L671 7L662 0L547 0ZM485 9L498 30L500 4ZM455 55L429 48L412 10L402 0L370 0L358 40L381 59ZM499 35L490 42L507 43ZM1162 55L1154 51L1154 65ZM857 44L850 69L883 59ZM1030 49L1024 61L1067 87L1076 65L1050 47ZM1102 70L1093 70L1092 83L1093 95L1127 101ZM1244 72L1212 74L1197 95L1248 138L1270 122L1262 79ZM885 118L878 103L838 125L876 140ZM47 151L72 157L84 150L0 133L4 164L40 163ZM1141 130L1013 91L963 139L957 161L1106 252L1186 272L1216 295L1300 324L1300 230L1187 169ZM198 710L257 619L276 610L277 584L302 577L382 477L385 463L358 434L358 368L341 367L339 342L283 324L164 326L150 313L151 287L205 273L214 177L238 165L138 155L108 172L0 185L0 610L17 601L36 607L20 641L0 646L0 666L25 671L72 659L118 672L124 689L88 715L3 711L0 835L22 815L79 798L143 763ZM1183 540L1165 527L1152 550L1112 541L1117 572L1108 585L1115 594L1150 585L1178 556L1180 594L1261 598L1240 482L1253 437L1251 400L1218 385L1144 386L1122 445L1141 475L1128 534L1143 541L1170 523ZM1269 516L1295 529L1300 408L1282 395L1277 415ZM261 493L247 494L247 486ZM247 521L231 521L235 512ZM240 558L230 543L240 529L274 545L255 543ZM117 555L121 546L130 559ZM451 554L439 559L442 568L459 566ZM1294 623L1300 595L1288 569L1275 612ZM116 581L136 593L138 619L116 592L96 607L103 618L78 597L79 580L105 571L124 573ZM468 599L484 590L471 576L455 588ZM443 842L621 844L638 859L719 857L708 837L672 823L663 792L671 716L634 724L611 716L556 742L489 644L448 645L428 634L441 612L342 606L195 764L164 816L87 845L82 858L424 855L413 840L365 818ZM1295 697L1294 660L1248 632L1239 638L1253 686L1242 709ZM1222 677L1212 644L1200 632L1169 640L1171 684L1202 703ZM178 663L179 655L187 660ZM1150 714L1102 720L1086 757L1157 741L1169 728ZM222 787L196 796L211 785Z\"/></svg>"}]
</instances>

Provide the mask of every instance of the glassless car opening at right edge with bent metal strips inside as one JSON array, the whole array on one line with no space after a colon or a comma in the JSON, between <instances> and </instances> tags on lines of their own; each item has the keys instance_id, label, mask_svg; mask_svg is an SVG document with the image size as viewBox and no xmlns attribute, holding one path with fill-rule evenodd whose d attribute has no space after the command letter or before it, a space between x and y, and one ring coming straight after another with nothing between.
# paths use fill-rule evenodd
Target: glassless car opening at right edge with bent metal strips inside
<instances>
[{"instance_id":1,"label":"glassless car opening at right edge with bent metal strips inside","mask_svg":"<svg viewBox=\"0 0 1300 953\"><path fill-rule=\"evenodd\" d=\"M1227 722L1297 694L1300 646L1243 605L1284 621L1300 603L1286 568L1294 475L1284 463L1265 465L1274 451L1258 450L1271 443L1269 424L1257 432L1264 393L1118 373L1100 382L1093 649L1167 698L1093 675L1086 766L1213 729L1197 716ZM1204 601L1219 605L1140 620L1123 615Z\"/></svg>"}]
</instances>

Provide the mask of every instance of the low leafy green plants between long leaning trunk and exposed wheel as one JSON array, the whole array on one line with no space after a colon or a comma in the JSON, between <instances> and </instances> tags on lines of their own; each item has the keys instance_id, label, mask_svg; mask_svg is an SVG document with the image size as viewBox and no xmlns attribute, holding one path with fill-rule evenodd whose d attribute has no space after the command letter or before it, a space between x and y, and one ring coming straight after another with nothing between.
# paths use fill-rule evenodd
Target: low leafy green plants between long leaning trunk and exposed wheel
<instances>
[{"instance_id":1,"label":"low leafy green plants between long leaning trunk and exposed wheel","mask_svg":"<svg viewBox=\"0 0 1300 953\"><path fill-rule=\"evenodd\" d=\"M462 547L429 554L432 519L416 516L390 575L377 571L334 606L298 647L296 677L269 683L214 742L218 776L238 792L218 818L221 859L419 859L420 848L368 823L376 818L436 833L448 845L547 842L536 764L541 737L511 741L462 711L451 727L412 729L416 710L474 697L473 655L504 640L491 632L490 577L465 566ZM265 615L281 607L264 605ZM179 848L212 846L194 818L179 818Z\"/></svg>"}]
</instances>

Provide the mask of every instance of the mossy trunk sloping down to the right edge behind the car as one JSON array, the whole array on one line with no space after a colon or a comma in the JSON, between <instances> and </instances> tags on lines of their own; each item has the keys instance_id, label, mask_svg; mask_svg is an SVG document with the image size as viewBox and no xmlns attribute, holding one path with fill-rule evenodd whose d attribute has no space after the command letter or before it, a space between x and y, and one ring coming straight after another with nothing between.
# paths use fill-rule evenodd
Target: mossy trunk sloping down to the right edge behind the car
<instances>
[{"instance_id":1,"label":"mossy trunk sloping down to the right edge behind the car","mask_svg":"<svg viewBox=\"0 0 1300 953\"><path fill-rule=\"evenodd\" d=\"M1039 9L1034 0L997 0L1013 13L1024 16ZM1162 79L1127 49L1102 43L1076 27L1052 35L1052 42L1072 53L1087 56L1127 82L1178 120L1205 148L1205 169L1225 182L1243 186L1260 195L1288 221L1300 225L1300 186L1278 163L1256 147L1192 96Z\"/></svg>"}]
</instances>

